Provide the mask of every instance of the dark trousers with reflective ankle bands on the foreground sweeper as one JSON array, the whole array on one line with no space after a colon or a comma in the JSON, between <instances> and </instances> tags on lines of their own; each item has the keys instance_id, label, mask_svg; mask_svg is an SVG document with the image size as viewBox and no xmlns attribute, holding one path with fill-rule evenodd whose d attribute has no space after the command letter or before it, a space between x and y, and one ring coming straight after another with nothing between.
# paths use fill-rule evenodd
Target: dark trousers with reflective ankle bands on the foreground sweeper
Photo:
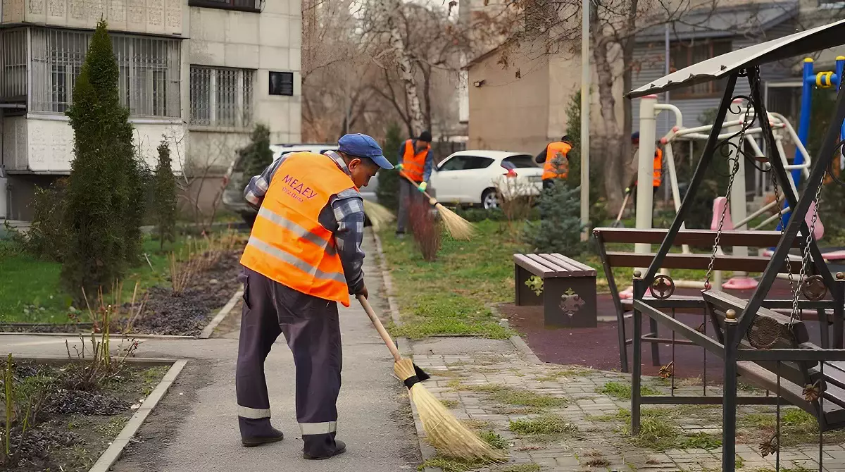
<instances>
[{"instance_id":1,"label":"dark trousers with reflective ankle bands on the foreground sweeper","mask_svg":"<svg viewBox=\"0 0 845 472\"><path fill-rule=\"evenodd\" d=\"M342 364L337 304L297 292L246 267L238 278L243 282L243 314L235 390L241 436L268 436L270 398L264 359L283 333L297 370L297 422L304 452L332 453Z\"/></svg>"}]
</instances>

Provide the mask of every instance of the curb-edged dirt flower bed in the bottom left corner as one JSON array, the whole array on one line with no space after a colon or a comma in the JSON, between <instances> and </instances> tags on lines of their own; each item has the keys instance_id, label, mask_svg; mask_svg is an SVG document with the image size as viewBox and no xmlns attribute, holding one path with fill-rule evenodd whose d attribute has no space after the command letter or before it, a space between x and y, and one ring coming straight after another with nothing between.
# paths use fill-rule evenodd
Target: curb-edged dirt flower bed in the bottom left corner
<instances>
[{"instance_id":1,"label":"curb-edged dirt flower bed in the bottom left corner","mask_svg":"<svg viewBox=\"0 0 845 472\"><path fill-rule=\"evenodd\" d=\"M90 469L169 368L102 357L64 365L8 358L0 366L3 472Z\"/></svg>"}]
</instances>

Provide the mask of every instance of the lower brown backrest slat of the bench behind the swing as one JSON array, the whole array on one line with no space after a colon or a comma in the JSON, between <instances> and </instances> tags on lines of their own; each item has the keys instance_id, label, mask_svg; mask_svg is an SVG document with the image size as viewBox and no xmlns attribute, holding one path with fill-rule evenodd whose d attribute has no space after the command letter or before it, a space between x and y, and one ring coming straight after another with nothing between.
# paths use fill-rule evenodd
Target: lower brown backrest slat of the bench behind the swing
<instances>
[{"instance_id":1,"label":"lower brown backrest slat of the bench behind the swing","mask_svg":"<svg viewBox=\"0 0 845 472\"><path fill-rule=\"evenodd\" d=\"M612 267L647 267L654 260L654 254L636 254L633 252L608 252L608 263ZM717 255L713 269L717 271L764 272L770 258L759 255L737 256ZM660 268L662 269L701 269L710 264L708 254L667 254ZM789 261L793 273L801 270L801 261ZM781 267L786 272L787 264Z\"/></svg>"}]
</instances>

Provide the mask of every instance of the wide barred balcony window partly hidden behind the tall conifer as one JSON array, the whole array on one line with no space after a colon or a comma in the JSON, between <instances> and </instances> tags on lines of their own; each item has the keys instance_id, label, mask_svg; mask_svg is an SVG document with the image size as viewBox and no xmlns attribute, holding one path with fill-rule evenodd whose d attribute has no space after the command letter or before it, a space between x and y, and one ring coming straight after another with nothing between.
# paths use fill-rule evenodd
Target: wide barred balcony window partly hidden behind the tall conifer
<instances>
[{"instance_id":1,"label":"wide barred balcony window partly hidden behind the tall conifer","mask_svg":"<svg viewBox=\"0 0 845 472\"><path fill-rule=\"evenodd\" d=\"M32 30L32 109L65 113L93 36L70 30ZM111 35L120 71L120 104L136 117L181 116L179 40Z\"/></svg>"}]
</instances>

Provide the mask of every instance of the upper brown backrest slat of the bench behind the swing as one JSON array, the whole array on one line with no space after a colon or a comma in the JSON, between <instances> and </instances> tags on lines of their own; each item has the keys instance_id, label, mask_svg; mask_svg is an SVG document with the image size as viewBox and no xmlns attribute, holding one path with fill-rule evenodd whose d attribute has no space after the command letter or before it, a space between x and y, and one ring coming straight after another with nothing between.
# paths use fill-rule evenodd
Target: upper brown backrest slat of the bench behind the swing
<instances>
[{"instance_id":1,"label":"upper brown backrest slat of the bench behind the swing","mask_svg":"<svg viewBox=\"0 0 845 472\"><path fill-rule=\"evenodd\" d=\"M669 233L668 229L651 228L594 228L593 234L601 235L604 243L647 243L661 244ZM716 231L709 229L683 229L678 232L672 244L680 246L712 246ZM722 231L719 244L722 246L750 246L758 248L774 247L781 239L779 231ZM800 247L800 238L795 239L793 247Z\"/></svg>"}]
</instances>

